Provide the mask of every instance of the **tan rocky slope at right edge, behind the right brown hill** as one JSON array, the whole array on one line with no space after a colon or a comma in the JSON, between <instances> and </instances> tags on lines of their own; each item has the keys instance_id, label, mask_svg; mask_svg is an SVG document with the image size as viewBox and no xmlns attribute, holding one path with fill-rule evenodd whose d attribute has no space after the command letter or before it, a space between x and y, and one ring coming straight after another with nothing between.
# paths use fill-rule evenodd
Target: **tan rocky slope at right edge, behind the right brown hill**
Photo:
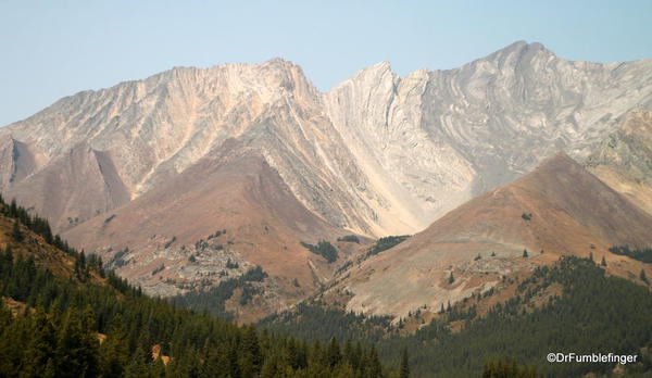
<instances>
[{"instance_id":1,"label":"tan rocky slope at right edge, behind the right brown hill","mask_svg":"<svg viewBox=\"0 0 652 378\"><path fill-rule=\"evenodd\" d=\"M628 114L589 155L585 166L652 214L652 112Z\"/></svg>"}]
</instances>

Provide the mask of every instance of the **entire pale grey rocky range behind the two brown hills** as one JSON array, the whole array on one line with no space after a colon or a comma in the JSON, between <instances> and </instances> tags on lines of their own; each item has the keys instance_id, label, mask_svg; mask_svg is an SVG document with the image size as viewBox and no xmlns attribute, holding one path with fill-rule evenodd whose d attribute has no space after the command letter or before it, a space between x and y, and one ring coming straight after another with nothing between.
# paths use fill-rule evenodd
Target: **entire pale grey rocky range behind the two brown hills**
<instances>
[{"instance_id":1,"label":"entire pale grey rocky range behind the two brown hills","mask_svg":"<svg viewBox=\"0 0 652 378\"><path fill-rule=\"evenodd\" d=\"M64 98L2 128L0 185L62 230L237 138L331 225L413 234L556 150L585 158L623 114L651 105L652 60L570 62L526 42L404 78L379 63L326 93L278 59L174 68ZM78 161L84 169L52 168ZM53 171L66 177L50 209L32 193L48 189ZM82 203L91 197L101 203Z\"/></svg>"}]
</instances>

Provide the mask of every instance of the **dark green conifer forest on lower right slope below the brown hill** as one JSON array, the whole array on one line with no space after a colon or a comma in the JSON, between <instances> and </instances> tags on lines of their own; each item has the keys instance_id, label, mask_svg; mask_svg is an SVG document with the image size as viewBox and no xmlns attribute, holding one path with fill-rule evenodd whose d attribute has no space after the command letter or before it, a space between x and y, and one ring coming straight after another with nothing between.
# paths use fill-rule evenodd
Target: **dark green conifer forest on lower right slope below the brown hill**
<instances>
[{"instance_id":1,"label":"dark green conifer forest on lower right slope below the brown hill","mask_svg":"<svg viewBox=\"0 0 652 378\"><path fill-rule=\"evenodd\" d=\"M399 336L403 322L391 325L325 308L318 302L262 324L274 332L317 340L355 335L376 342L381 361L390 364L398 364L401 351L408 350L415 377L480 376L486 362L490 362L486 368L493 369L504 365L506 357L554 377L609 376L615 368L613 363L548 363L547 354L556 352L637 354L639 363L626 365L626 371L649 376L652 293L645 281L636 280L606 276L593 261L567 256L552 267L537 268L517 282L515 297L486 314L463 304L444 308L438 320L406 337ZM499 293L489 292L482 300L491 295Z\"/></svg>"}]
</instances>

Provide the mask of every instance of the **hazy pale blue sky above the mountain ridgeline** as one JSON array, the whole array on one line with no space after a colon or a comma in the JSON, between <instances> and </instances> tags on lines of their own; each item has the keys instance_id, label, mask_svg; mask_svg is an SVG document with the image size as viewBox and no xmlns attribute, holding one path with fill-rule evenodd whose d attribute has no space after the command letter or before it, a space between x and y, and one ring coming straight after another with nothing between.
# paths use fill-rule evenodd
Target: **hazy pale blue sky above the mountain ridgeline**
<instances>
[{"instance_id":1,"label":"hazy pale blue sky above the mountain ridgeline","mask_svg":"<svg viewBox=\"0 0 652 378\"><path fill-rule=\"evenodd\" d=\"M0 0L0 125L178 65L280 56L327 90L379 61L452 68L522 39L570 60L652 58L651 25L651 0Z\"/></svg>"}]
</instances>

